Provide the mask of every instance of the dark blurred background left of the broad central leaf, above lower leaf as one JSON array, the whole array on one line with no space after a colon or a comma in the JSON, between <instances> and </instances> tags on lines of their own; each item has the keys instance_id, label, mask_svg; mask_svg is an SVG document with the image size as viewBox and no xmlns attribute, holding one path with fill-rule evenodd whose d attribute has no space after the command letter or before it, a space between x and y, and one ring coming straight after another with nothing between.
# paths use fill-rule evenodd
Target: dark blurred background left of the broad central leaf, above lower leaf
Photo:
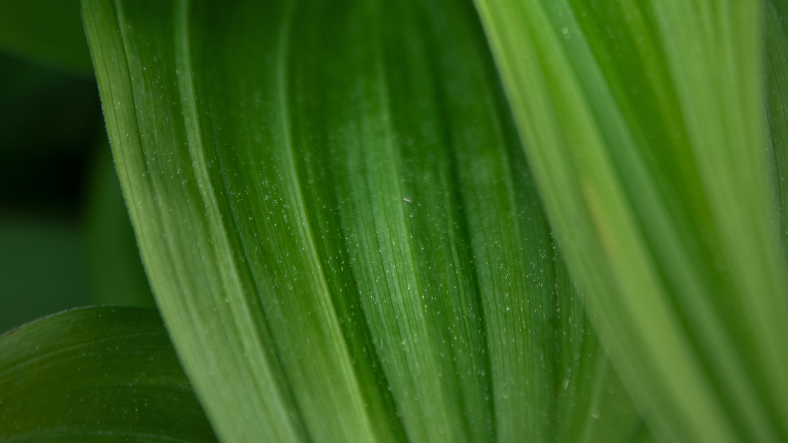
<instances>
[{"instance_id":1,"label":"dark blurred background left of the broad central leaf, above lower leaf","mask_svg":"<svg viewBox=\"0 0 788 443\"><path fill-rule=\"evenodd\" d=\"M3 2L0 333L95 304L154 307L106 141L78 2Z\"/></svg>"}]
</instances>

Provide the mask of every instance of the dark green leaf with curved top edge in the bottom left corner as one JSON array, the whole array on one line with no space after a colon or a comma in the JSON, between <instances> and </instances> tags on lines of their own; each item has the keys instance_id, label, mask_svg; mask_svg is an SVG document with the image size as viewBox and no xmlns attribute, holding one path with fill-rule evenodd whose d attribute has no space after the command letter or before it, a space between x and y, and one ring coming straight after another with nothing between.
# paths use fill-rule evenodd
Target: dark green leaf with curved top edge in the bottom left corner
<instances>
[{"instance_id":1,"label":"dark green leaf with curved top edge in the bottom left corner","mask_svg":"<svg viewBox=\"0 0 788 443\"><path fill-rule=\"evenodd\" d=\"M2 441L216 441L156 311L65 311L0 337Z\"/></svg>"}]
</instances>

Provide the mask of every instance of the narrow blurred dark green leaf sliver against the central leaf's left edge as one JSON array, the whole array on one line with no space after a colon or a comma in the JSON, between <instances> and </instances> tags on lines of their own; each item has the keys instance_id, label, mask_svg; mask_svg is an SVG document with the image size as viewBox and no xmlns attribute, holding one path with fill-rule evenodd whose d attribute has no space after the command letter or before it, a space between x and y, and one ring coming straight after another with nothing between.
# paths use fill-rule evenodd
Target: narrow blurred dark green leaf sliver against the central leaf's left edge
<instances>
[{"instance_id":1,"label":"narrow blurred dark green leaf sliver against the central leaf's left edge","mask_svg":"<svg viewBox=\"0 0 788 443\"><path fill-rule=\"evenodd\" d=\"M87 283L94 303L155 307L139 260L106 134L95 155L84 216Z\"/></svg>"}]
</instances>

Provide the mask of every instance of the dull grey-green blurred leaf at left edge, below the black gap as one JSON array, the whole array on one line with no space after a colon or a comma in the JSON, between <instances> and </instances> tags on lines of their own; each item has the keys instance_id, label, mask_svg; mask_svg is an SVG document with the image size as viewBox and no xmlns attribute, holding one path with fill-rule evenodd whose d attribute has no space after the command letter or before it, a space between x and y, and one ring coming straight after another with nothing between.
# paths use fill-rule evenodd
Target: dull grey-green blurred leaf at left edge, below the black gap
<instances>
[{"instance_id":1,"label":"dull grey-green blurred leaf at left edge, below the black gap","mask_svg":"<svg viewBox=\"0 0 788 443\"><path fill-rule=\"evenodd\" d=\"M74 221L0 219L0 332L52 312L91 303L84 251Z\"/></svg>"}]
</instances>

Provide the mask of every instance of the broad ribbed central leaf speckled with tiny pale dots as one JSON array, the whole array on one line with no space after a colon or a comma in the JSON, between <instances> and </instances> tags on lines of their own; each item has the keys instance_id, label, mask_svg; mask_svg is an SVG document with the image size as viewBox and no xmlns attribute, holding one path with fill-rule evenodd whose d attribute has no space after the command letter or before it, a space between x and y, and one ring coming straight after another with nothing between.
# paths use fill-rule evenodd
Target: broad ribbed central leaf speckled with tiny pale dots
<instances>
[{"instance_id":1,"label":"broad ribbed central leaf speckled with tiny pale dots","mask_svg":"<svg viewBox=\"0 0 788 443\"><path fill-rule=\"evenodd\" d=\"M463 2L84 2L121 185L225 441L647 436Z\"/></svg>"}]
</instances>

